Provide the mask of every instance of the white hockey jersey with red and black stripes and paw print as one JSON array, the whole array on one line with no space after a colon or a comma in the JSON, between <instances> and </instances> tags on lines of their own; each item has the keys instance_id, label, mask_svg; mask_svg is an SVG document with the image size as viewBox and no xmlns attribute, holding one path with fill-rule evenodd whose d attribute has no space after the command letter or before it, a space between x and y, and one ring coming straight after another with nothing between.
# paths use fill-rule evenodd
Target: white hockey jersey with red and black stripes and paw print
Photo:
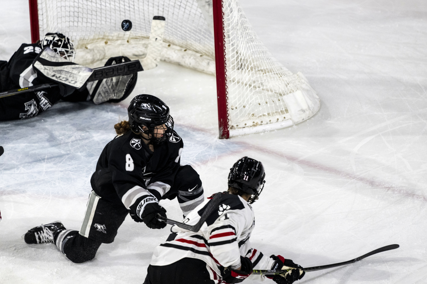
<instances>
[{"instance_id":1,"label":"white hockey jersey with red and black stripes and paw print","mask_svg":"<svg viewBox=\"0 0 427 284\"><path fill-rule=\"evenodd\" d=\"M190 212L183 222L196 225L210 201L211 197ZM154 249L151 265L173 264L182 258L201 259L206 262L215 283L225 283L221 281L221 266L233 269L241 266L240 255L251 259L254 269L271 269L274 261L252 248L249 242L254 226L254 212L246 200L234 194L221 194L218 209L208 216L199 232L172 226L167 241Z\"/></svg>"}]
</instances>

